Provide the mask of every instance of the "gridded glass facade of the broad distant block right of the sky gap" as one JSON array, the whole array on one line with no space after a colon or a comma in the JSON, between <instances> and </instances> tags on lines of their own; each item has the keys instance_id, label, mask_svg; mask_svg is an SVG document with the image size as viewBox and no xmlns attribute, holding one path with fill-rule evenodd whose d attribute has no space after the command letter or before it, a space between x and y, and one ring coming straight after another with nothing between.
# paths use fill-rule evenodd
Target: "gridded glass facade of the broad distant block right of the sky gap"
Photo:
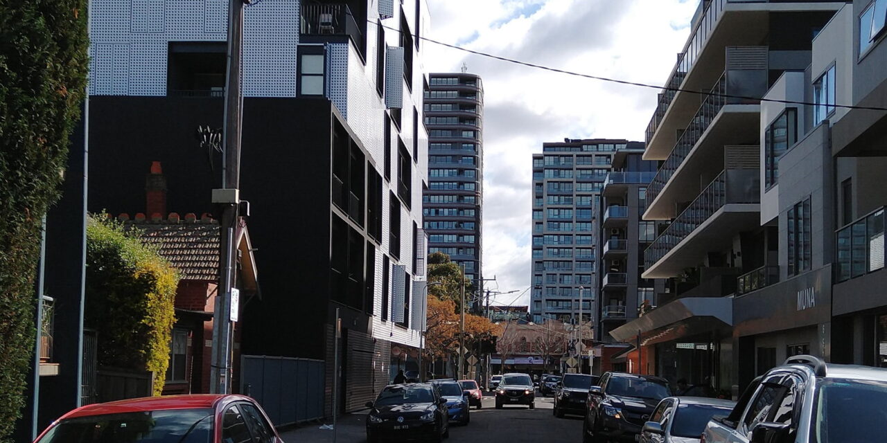
<instances>
[{"instance_id":1,"label":"gridded glass facade of the broad distant block right of the sky gap","mask_svg":"<svg viewBox=\"0 0 887 443\"><path fill-rule=\"evenodd\" d=\"M577 327L591 327L600 293L600 191L617 152L639 148L643 144L627 140L565 139L543 144L542 153L533 154L530 314L534 322L573 321L581 325ZM622 272L624 266L624 262L619 265ZM583 337L590 334L585 330Z\"/></svg>"}]
</instances>

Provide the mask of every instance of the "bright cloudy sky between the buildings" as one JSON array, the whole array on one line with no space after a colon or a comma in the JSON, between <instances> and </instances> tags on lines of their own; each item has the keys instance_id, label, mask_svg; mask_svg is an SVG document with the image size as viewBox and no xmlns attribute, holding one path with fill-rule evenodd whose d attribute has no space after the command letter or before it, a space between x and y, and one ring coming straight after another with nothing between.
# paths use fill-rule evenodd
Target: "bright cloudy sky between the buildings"
<instances>
[{"instance_id":1,"label":"bright cloudy sky between the buildings","mask_svg":"<svg viewBox=\"0 0 887 443\"><path fill-rule=\"evenodd\" d=\"M428 38L567 71L663 85L699 0L428 0ZM532 153L569 138L643 141L656 90L552 73L426 42L426 72L483 80L484 289L528 305Z\"/></svg>"}]
</instances>

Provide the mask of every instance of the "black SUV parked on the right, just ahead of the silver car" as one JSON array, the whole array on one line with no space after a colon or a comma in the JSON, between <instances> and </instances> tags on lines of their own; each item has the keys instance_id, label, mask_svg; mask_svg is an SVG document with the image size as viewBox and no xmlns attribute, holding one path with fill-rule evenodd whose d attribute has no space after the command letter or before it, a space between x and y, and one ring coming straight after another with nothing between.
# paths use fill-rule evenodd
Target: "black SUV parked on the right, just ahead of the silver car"
<instances>
[{"instance_id":1,"label":"black SUV parked on the right, just ahead of the silver car","mask_svg":"<svg viewBox=\"0 0 887 443\"><path fill-rule=\"evenodd\" d=\"M582 441L635 441L659 400L671 396L668 382L661 377L606 372L600 385L588 390Z\"/></svg>"}]
</instances>

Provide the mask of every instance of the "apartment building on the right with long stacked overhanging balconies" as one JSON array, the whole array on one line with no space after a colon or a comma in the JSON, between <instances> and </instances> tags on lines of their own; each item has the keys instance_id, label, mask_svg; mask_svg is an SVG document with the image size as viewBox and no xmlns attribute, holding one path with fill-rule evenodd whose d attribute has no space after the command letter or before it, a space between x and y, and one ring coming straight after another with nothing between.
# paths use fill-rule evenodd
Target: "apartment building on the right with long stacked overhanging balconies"
<instances>
[{"instance_id":1,"label":"apartment building on the right with long stacked overhanging balconies","mask_svg":"<svg viewBox=\"0 0 887 443\"><path fill-rule=\"evenodd\" d=\"M791 154L797 147L781 158L762 155L789 143L784 128L774 128L767 141L761 121L778 120L771 113L779 110L759 98L811 66L814 37L822 38L844 5L700 2L658 95L643 157L661 162L648 185L643 219L666 221L667 227L644 252L641 277L670 279L671 291L655 309L610 331L617 341L640 346L633 361L640 372L686 378L729 394L781 355L806 352L804 344L819 354L814 348L828 336L826 309L798 300L808 297L811 284L828 286L817 278L828 274L830 245L823 233L829 229L830 187L822 180L830 169L815 168L815 153ZM776 123L788 125L782 121ZM805 186L774 190L768 161L778 161L780 182ZM790 161L804 164L786 167ZM818 184L809 182L811 176ZM814 242L819 252L808 241L814 234L821 237ZM772 290L783 297L753 293L761 282L774 281L785 282ZM788 347L774 354L783 344Z\"/></svg>"}]
</instances>

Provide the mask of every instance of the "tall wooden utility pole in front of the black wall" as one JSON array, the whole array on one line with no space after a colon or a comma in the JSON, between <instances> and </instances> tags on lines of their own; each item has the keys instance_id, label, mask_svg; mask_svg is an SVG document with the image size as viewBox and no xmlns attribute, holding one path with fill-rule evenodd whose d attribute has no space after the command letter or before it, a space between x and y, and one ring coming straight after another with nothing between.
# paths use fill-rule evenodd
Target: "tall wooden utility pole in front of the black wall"
<instances>
[{"instance_id":1,"label":"tall wooden utility pole in front of the black wall","mask_svg":"<svg viewBox=\"0 0 887 443\"><path fill-rule=\"evenodd\" d=\"M231 0L228 12L228 67L224 89L222 189L213 190L213 203L221 206L219 224L219 285L213 317L213 355L209 391L231 392L232 288L237 257L240 184L240 46L243 43L243 0ZM239 307L234 307L235 309ZM234 313L235 317L237 313Z\"/></svg>"}]
</instances>

